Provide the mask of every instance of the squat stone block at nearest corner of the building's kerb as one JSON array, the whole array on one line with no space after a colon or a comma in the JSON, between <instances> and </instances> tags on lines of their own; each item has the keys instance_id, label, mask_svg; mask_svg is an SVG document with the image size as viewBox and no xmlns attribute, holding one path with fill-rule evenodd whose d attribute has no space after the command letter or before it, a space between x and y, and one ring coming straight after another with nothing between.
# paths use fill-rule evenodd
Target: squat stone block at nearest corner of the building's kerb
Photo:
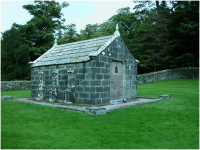
<instances>
[{"instance_id":1,"label":"squat stone block at nearest corner of the building's kerb","mask_svg":"<svg viewBox=\"0 0 200 150\"><path fill-rule=\"evenodd\" d=\"M106 108L101 107L88 107L85 108L85 113L88 115L103 115L106 114Z\"/></svg>"}]
</instances>

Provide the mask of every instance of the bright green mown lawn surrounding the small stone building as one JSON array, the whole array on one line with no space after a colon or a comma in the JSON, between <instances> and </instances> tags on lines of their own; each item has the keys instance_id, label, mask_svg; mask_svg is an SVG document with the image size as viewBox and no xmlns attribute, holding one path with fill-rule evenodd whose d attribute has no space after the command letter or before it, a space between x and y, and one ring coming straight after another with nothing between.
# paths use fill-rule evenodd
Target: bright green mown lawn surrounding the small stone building
<instances>
[{"instance_id":1,"label":"bright green mown lawn surrounding the small stone building","mask_svg":"<svg viewBox=\"0 0 200 150\"><path fill-rule=\"evenodd\" d=\"M138 96L162 94L172 98L101 116L1 100L1 148L199 149L199 80L138 85Z\"/></svg>"}]
</instances>

